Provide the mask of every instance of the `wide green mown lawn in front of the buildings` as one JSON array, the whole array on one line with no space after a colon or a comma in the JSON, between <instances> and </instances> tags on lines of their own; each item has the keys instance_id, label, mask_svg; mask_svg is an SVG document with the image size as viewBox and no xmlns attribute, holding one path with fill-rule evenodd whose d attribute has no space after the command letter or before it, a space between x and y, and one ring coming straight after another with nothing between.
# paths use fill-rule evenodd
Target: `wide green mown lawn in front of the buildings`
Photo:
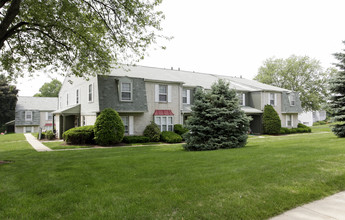
<instances>
[{"instance_id":1,"label":"wide green mown lawn in front of the buildings","mask_svg":"<svg viewBox=\"0 0 345 220\"><path fill-rule=\"evenodd\" d=\"M345 190L345 139L249 139L241 149L181 145L35 152L0 136L0 219L266 219Z\"/></svg>"}]
</instances>

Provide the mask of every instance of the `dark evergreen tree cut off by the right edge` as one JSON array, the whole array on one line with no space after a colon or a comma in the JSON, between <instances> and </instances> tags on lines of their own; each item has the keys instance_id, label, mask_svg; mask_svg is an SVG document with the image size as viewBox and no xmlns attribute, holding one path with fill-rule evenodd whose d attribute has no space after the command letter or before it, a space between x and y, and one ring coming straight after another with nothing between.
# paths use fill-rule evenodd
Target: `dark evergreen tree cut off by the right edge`
<instances>
[{"instance_id":1,"label":"dark evergreen tree cut off by the right edge","mask_svg":"<svg viewBox=\"0 0 345 220\"><path fill-rule=\"evenodd\" d=\"M330 107L334 121L337 122L332 131L338 137L345 137L345 53L336 53L334 56L339 60L335 65L340 71L330 81Z\"/></svg>"}]
</instances>

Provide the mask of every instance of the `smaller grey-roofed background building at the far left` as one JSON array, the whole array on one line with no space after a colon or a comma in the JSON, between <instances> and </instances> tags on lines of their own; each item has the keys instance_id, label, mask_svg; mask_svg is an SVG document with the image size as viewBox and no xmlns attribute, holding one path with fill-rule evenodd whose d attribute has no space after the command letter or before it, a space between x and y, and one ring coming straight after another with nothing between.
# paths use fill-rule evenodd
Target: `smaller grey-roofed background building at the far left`
<instances>
[{"instance_id":1,"label":"smaller grey-roofed background building at the far left","mask_svg":"<svg viewBox=\"0 0 345 220\"><path fill-rule=\"evenodd\" d=\"M53 130L53 114L57 109L58 98L19 96L14 129L16 133Z\"/></svg>"}]
</instances>

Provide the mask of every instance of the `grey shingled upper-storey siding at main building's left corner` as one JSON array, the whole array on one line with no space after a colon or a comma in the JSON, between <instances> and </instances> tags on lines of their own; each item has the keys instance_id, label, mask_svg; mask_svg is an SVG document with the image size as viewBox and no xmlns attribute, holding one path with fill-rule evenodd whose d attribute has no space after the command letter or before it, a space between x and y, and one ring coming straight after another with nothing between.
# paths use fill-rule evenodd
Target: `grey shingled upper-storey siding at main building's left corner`
<instances>
[{"instance_id":1,"label":"grey shingled upper-storey siding at main building's left corner","mask_svg":"<svg viewBox=\"0 0 345 220\"><path fill-rule=\"evenodd\" d=\"M121 77L98 77L100 111L105 108L113 108L118 112L147 112L146 87L144 79L128 79L131 80L133 86L132 101L120 101L119 80L121 80Z\"/></svg>"}]
</instances>

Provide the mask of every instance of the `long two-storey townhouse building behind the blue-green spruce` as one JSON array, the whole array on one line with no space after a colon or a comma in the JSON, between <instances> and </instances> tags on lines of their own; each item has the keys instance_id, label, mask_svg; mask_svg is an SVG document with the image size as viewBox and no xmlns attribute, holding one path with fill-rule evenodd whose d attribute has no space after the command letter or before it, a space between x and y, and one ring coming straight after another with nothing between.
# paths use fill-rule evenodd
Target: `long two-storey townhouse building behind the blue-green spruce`
<instances>
[{"instance_id":1,"label":"long two-storey townhouse building behind the blue-green spruce","mask_svg":"<svg viewBox=\"0 0 345 220\"><path fill-rule=\"evenodd\" d=\"M210 89L218 79L230 82L237 90L243 111L253 118L253 133L262 133L262 113L267 104L278 112L283 127L297 127L302 111L298 93L244 78L131 66L88 80L66 78L54 112L57 135L61 138L72 127L93 125L105 108L120 114L126 135L142 135L150 121L162 131L172 131L174 124L184 124L190 116L195 89Z\"/></svg>"}]
</instances>

